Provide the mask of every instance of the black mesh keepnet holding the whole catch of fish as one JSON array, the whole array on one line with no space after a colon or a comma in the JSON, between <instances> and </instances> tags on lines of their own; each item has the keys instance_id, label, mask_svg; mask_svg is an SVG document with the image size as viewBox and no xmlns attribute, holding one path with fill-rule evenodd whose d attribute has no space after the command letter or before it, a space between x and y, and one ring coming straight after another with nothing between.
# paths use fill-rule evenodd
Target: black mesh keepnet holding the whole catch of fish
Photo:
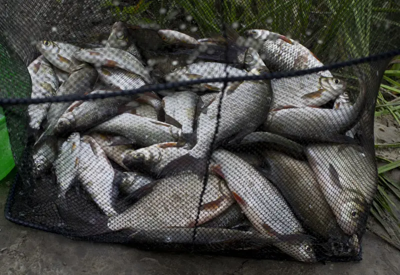
<instances>
[{"instance_id":1,"label":"black mesh keepnet holding the whole catch of fish","mask_svg":"<svg viewBox=\"0 0 400 275\"><path fill-rule=\"evenodd\" d=\"M150 249L361 259L398 3L1 2L9 220Z\"/></svg>"}]
</instances>

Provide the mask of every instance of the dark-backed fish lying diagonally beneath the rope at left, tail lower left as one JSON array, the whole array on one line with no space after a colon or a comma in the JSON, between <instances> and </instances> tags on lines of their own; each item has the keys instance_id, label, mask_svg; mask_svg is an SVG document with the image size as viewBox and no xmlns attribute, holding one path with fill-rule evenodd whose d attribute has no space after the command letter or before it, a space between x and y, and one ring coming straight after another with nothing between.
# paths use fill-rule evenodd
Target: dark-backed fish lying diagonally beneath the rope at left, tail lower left
<instances>
[{"instance_id":1,"label":"dark-backed fish lying diagonally beneath the rope at left, tail lower left","mask_svg":"<svg viewBox=\"0 0 400 275\"><path fill-rule=\"evenodd\" d=\"M97 71L88 64L75 67L68 79L58 87L54 95L84 94L91 91L97 80ZM59 117L68 108L71 102L54 102L50 104L45 123L46 130L38 138L38 142L43 136L54 133L55 126Z\"/></svg>"}]
</instances>

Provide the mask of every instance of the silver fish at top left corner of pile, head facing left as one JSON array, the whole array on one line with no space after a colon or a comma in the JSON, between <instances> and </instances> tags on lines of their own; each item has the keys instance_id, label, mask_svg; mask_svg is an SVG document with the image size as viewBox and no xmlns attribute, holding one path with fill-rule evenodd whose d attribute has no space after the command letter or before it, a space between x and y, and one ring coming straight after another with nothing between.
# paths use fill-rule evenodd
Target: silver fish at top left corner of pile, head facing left
<instances>
[{"instance_id":1,"label":"silver fish at top left corner of pile, head facing left","mask_svg":"<svg viewBox=\"0 0 400 275\"><path fill-rule=\"evenodd\" d=\"M80 62L74 60L73 54L81 48L72 44L42 40L36 43L36 48L54 66L60 70L71 72Z\"/></svg>"}]
</instances>

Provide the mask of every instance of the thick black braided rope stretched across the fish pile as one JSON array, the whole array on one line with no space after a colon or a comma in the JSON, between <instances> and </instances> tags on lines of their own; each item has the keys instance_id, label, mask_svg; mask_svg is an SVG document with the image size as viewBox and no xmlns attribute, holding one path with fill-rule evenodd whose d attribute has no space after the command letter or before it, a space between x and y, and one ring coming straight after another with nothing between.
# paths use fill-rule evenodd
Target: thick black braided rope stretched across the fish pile
<instances>
[{"instance_id":1,"label":"thick black braided rope stretched across the fish pile","mask_svg":"<svg viewBox=\"0 0 400 275\"><path fill-rule=\"evenodd\" d=\"M15 104L38 104L46 102L65 102L65 101L75 101L75 100L89 100L89 99L100 99L112 96L121 95L132 95L136 93L142 93L146 91L159 91L172 89L177 87L184 87L193 84L207 83L207 82L230 82L230 81L243 81L243 80L262 80L262 79L272 79L272 78L283 78L283 77L293 77L300 76L304 74L309 74L313 72L318 72L322 70L338 69L342 67L357 65L361 63L367 63L372 61L378 61L386 58L390 58L396 55L400 55L400 50L386 51L378 54L373 54L365 57L360 57L356 59L351 59L343 62L328 64L320 67L297 70L297 71L285 71L285 72L271 72L262 75L245 75L245 76L232 76L232 77L216 77L216 78L202 78L194 79L188 81L179 81L171 83L160 83L160 84L149 84L141 86L137 89L121 90L109 93L94 93L94 94L70 94L61 96L51 96L44 98L0 98L0 105L15 105Z\"/></svg>"}]
</instances>

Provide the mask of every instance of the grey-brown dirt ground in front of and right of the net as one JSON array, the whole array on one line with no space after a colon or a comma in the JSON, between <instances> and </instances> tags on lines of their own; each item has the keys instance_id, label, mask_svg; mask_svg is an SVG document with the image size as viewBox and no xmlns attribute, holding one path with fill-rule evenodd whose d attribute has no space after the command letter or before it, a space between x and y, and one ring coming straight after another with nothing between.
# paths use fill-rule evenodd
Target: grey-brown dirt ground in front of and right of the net
<instances>
[{"instance_id":1,"label":"grey-brown dirt ground in front of and right of the net","mask_svg":"<svg viewBox=\"0 0 400 275\"><path fill-rule=\"evenodd\" d=\"M393 122L387 116L376 119L376 143L400 142ZM378 150L377 154L396 160L398 150ZM400 181L400 171L392 172L391 177ZM9 184L0 185L0 212ZM379 228L373 219L368 224ZM362 250L360 262L325 264L171 254L71 240L16 225L0 215L0 274L400 274L400 251L369 231L362 239Z\"/></svg>"}]
</instances>

